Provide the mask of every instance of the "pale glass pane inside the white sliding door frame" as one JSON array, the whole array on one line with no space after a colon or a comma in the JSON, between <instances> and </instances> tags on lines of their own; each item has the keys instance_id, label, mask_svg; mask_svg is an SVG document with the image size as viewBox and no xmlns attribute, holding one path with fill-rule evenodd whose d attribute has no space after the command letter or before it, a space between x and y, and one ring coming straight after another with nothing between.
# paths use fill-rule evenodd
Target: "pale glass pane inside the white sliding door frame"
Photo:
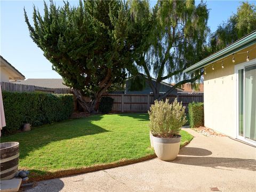
<instances>
[{"instance_id":1,"label":"pale glass pane inside the white sliding door frame","mask_svg":"<svg viewBox=\"0 0 256 192\"><path fill-rule=\"evenodd\" d=\"M256 141L256 65L245 67L244 72L244 137Z\"/></svg>"}]
</instances>

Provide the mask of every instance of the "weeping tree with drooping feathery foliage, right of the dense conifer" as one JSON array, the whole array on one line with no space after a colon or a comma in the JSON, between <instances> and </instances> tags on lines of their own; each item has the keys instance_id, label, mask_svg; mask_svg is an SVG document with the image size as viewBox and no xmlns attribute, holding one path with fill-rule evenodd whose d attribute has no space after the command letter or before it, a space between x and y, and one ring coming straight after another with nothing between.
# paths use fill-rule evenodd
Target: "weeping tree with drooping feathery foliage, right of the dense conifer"
<instances>
[{"instance_id":1,"label":"weeping tree with drooping feathery foliage, right of the dense conifer","mask_svg":"<svg viewBox=\"0 0 256 192\"><path fill-rule=\"evenodd\" d=\"M197 6L194 1L158 1L150 13L146 4L131 3L132 11L138 14L135 27L140 29L137 38L144 43L134 44L135 63L139 71L146 75L146 81L153 90L154 99L164 99L174 89L188 82L195 82L202 71L184 74L183 70L207 55L205 39L209 28L209 11L204 3ZM141 18L139 10L144 10L147 19ZM156 83L151 81L156 79ZM164 94L159 93L162 81L176 84Z\"/></svg>"}]
</instances>

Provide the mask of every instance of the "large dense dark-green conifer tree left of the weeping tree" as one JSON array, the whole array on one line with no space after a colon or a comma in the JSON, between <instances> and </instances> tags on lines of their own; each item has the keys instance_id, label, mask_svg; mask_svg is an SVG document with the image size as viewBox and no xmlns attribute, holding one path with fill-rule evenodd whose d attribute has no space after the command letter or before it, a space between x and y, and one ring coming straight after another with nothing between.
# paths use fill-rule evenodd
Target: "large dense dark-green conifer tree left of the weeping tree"
<instances>
[{"instance_id":1,"label":"large dense dark-green conifer tree left of the weeping tree","mask_svg":"<svg viewBox=\"0 0 256 192\"><path fill-rule=\"evenodd\" d=\"M30 37L52 63L65 84L73 88L81 106L94 112L101 95L123 82L132 65L129 10L122 1L68 2L57 7L44 3L44 15L34 7L31 25L25 12ZM83 100L85 94L90 103Z\"/></svg>"}]
</instances>

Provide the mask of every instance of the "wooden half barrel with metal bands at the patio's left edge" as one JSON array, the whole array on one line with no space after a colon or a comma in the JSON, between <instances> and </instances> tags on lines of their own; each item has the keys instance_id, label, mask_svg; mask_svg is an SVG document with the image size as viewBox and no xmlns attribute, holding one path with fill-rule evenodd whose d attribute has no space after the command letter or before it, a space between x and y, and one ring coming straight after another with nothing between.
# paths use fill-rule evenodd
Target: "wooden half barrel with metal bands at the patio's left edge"
<instances>
[{"instance_id":1,"label":"wooden half barrel with metal bands at the patio's left edge","mask_svg":"<svg viewBox=\"0 0 256 192\"><path fill-rule=\"evenodd\" d=\"M4 142L1 143L1 180L12 179L18 171L19 166L19 143Z\"/></svg>"}]
</instances>

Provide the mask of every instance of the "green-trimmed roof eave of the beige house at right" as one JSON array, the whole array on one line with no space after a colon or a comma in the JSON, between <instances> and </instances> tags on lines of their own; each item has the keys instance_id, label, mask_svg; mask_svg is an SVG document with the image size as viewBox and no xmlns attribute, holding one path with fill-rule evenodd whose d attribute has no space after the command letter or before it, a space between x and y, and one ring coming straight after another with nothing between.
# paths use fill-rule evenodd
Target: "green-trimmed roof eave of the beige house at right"
<instances>
[{"instance_id":1,"label":"green-trimmed roof eave of the beige house at right","mask_svg":"<svg viewBox=\"0 0 256 192\"><path fill-rule=\"evenodd\" d=\"M217 60L220 60L224 57L227 57L228 55L231 55L237 51L240 51L242 49L245 49L246 47L249 47L256 43L256 30L252 33L242 37L241 39L238 39L236 42L226 46L222 50L211 54L209 57L206 57L205 59L195 63L195 65L190 66L189 68L185 69L185 73L191 73L197 69L201 69L204 66L207 66L211 64L212 62L215 62Z\"/></svg>"}]
</instances>

